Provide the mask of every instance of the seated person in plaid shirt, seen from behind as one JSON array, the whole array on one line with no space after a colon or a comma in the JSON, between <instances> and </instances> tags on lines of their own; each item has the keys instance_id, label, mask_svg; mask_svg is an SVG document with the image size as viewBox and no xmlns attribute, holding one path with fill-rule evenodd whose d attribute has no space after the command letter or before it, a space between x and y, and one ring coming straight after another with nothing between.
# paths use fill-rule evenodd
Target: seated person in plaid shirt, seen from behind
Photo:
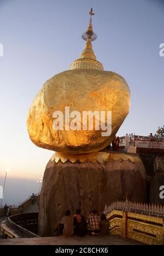
<instances>
[{"instance_id":1,"label":"seated person in plaid shirt, seen from behind","mask_svg":"<svg viewBox=\"0 0 164 256\"><path fill-rule=\"evenodd\" d=\"M96 210L92 210L87 219L89 235L99 235L99 216Z\"/></svg>"}]
</instances>

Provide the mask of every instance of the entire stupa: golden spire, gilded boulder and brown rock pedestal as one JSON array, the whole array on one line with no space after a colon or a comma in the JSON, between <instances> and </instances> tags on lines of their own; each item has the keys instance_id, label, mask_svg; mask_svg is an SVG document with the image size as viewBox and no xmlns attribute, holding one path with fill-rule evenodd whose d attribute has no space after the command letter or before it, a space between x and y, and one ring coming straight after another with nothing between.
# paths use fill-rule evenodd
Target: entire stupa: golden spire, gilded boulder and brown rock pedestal
<instances>
[{"instance_id":1,"label":"entire stupa: golden spire, gilded boulder and brown rock pedestal","mask_svg":"<svg viewBox=\"0 0 164 256\"><path fill-rule=\"evenodd\" d=\"M124 78L104 71L96 60L92 9L90 15L79 59L69 71L43 85L28 112L32 142L55 151L45 168L40 194L40 236L51 236L67 209L74 213L81 208L87 216L92 208L101 213L106 203L126 197L146 201L145 169L139 156L104 150L129 112L130 89ZM101 113L105 113L103 122ZM110 128L108 133L104 127Z\"/></svg>"}]
</instances>

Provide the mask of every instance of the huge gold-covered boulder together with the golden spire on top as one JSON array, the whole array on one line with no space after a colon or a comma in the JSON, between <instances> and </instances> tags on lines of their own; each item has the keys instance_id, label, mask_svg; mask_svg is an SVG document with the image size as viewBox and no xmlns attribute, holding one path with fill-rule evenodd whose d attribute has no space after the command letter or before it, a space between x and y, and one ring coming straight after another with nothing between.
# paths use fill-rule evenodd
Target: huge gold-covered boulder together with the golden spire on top
<instances>
[{"instance_id":1,"label":"huge gold-covered boulder together with the golden spire on top","mask_svg":"<svg viewBox=\"0 0 164 256\"><path fill-rule=\"evenodd\" d=\"M92 14L93 15L93 14ZM103 71L103 65L96 60L91 41L96 38L92 30L91 19L87 31L83 34L86 40L85 49L79 59L71 64L71 70L56 74L49 79L38 92L32 102L27 116L27 129L30 138L38 147L67 154L84 154L98 152L106 148L113 140L116 132L126 118L130 109L130 89L119 74ZM63 113L65 107L69 112L78 111L81 116L80 130L53 127L53 114ZM95 129L96 119L93 117L93 129L83 129L84 111L98 113L112 112L112 132L102 136L102 129ZM88 124L87 120L87 124ZM99 120L99 127L101 127ZM107 124L107 117L104 121Z\"/></svg>"}]
</instances>

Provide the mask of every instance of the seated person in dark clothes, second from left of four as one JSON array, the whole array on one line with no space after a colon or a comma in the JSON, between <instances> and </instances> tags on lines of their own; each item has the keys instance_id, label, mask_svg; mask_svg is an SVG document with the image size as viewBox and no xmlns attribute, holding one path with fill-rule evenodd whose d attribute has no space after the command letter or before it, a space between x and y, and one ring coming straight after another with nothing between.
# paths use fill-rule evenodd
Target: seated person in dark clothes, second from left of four
<instances>
[{"instance_id":1,"label":"seated person in dark clothes, second from left of four","mask_svg":"<svg viewBox=\"0 0 164 256\"><path fill-rule=\"evenodd\" d=\"M76 214L73 216L74 219L74 234L77 236L85 236L87 232L86 220L83 215L81 215L81 210L78 209Z\"/></svg>"}]
</instances>

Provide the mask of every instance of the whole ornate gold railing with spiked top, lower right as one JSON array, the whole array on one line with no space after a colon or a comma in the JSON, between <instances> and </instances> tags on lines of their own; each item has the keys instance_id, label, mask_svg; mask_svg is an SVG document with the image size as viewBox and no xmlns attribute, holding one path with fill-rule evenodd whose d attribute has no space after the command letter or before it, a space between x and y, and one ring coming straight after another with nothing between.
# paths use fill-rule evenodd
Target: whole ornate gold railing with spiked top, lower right
<instances>
[{"instance_id":1,"label":"whole ornate gold railing with spiked top, lower right","mask_svg":"<svg viewBox=\"0 0 164 256\"><path fill-rule=\"evenodd\" d=\"M164 207L126 200L106 206L104 213L109 219L110 234L146 245L164 245Z\"/></svg>"}]
</instances>

